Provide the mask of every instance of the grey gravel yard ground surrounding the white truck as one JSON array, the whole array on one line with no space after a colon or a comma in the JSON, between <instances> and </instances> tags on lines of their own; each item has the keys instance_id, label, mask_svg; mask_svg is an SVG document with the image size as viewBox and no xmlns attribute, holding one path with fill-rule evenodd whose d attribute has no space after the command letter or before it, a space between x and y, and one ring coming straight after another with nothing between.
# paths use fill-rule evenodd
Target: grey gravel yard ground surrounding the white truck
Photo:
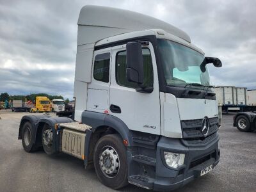
<instances>
[{"instance_id":1,"label":"grey gravel yard ground surrounding the white truck","mask_svg":"<svg viewBox=\"0 0 256 192\"><path fill-rule=\"evenodd\" d=\"M22 115L0 111L0 191L113 191L75 157L25 152L17 140ZM176 191L256 191L256 132L239 132L232 116L223 115L218 166ZM120 191L148 190L129 184Z\"/></svg>"}]
</instances>

